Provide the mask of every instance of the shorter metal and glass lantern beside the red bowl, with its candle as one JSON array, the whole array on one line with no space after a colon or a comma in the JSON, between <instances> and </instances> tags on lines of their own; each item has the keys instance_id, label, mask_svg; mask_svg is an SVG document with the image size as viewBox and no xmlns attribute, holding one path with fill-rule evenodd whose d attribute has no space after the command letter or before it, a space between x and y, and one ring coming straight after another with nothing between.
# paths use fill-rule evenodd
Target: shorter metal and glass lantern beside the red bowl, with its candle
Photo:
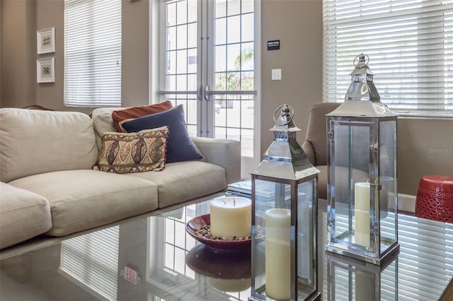
<instances>
[{"instance_id":1,"label":"shorter metal and glass lantern beside the red bowl, with its candle","mask_svg":"<svg viewBox=\"0 0 453 301\"><path fill-rule=\"evenodd\" d=\"M281 109L281 111L280 111ZM280 117L277 113L280 112ZM251 297L316 300L318 173L296 140L294 111L274 112L274 141L252 175Z\"/></svg>"}]
</instances>

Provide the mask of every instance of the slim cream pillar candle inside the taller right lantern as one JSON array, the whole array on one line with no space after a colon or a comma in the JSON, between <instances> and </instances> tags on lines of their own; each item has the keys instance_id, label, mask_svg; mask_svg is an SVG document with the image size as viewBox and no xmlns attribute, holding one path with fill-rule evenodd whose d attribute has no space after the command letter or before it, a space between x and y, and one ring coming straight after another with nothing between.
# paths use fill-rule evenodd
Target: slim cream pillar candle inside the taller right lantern
<instances>
[{"instance_id":1,"label":"slim cream pillar candle inside the taller right lantern","mask_svg":"<svg viewBox=\"0 0 453 301\"><path fill-rule=\"evenodd\" d=\"M369 183L355 183L355 243L369 247Z\"/></svg>"}]
</instances>

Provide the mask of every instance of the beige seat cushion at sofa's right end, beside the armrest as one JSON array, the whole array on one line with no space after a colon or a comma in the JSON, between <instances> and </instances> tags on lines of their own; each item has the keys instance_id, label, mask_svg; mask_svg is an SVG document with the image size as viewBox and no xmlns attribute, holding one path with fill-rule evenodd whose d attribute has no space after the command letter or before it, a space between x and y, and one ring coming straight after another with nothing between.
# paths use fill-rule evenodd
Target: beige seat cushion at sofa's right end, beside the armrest
<instances>
[{"instance_id":1,"label":"beige seat cushion at sofa's right end, beside the armrest","mask_svg":"<svg viewBox=\"0 0 453 301\"><path fill-rule=\"evenodd\" d=\"M134 172L130 176L156 183L159 208L226 189L224 168L202 161L167 163L161 172Z\"/></svg>"}]
</instances>

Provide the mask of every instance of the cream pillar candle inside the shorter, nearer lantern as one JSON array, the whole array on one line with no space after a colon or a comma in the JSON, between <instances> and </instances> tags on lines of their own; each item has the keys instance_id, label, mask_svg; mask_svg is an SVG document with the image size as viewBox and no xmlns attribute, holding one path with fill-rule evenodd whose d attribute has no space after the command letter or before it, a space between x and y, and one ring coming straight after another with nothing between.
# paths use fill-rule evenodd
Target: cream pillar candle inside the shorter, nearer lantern
<instances>
[{"instance_id":1,"label":"cream pillar candle inside the shorter, nearer lantern","mask_svg":"<svg viewBox=\"0 0 453 301\"><path fill-rule=\"evenodd\" d=\"M291 297L291 211L274 208L265 213L266 295L275 300Z\"/></svg>"}]
</instances>

